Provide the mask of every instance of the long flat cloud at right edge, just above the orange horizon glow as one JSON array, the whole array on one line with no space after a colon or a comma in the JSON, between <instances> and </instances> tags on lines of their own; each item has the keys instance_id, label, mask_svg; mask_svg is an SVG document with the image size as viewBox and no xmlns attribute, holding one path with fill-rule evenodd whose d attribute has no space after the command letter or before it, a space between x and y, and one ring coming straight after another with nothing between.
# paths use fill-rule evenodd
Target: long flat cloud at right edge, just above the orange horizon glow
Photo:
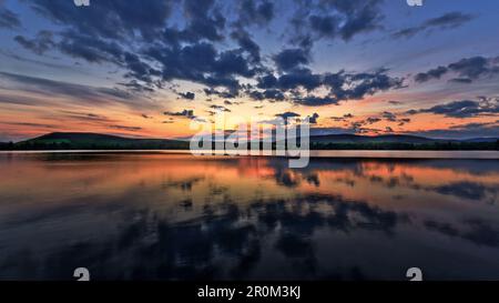
<instances>
[{"instance_id":1,"label":"long flat cloud at right edge, just above the orange horizon glow","mask_svg":"<svg viewBox=\"0 0 499 303\"><path fill-rule=\"evenodd\" d=\"M409 110L408 114L435 113L450 118L472 118L499 113L499 98L480 98L478 101L461 100L438 104L429 109Z\"/></svg>"}]
</instances>

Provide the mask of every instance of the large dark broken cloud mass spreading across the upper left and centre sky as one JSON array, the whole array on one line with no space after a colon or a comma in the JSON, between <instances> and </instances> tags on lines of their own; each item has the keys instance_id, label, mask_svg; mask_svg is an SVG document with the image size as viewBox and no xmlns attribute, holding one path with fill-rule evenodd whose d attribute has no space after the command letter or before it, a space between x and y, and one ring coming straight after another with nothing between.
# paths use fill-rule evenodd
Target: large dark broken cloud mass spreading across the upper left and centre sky
<instances>
[{"instance_id":1,"label":"large dark broken cloud mass spreading across the upper left and centre sky","mask_svg":"<svg viewBox=\"0 0 499 303\"><path fill-rule=\"evenodd\" d=\"M307 18L334 14L339 20L334 24L335 34L344 40L371 30L381 18L381 0L318 2L310 4L314 13ZM92 3L82 13L73 3L34 0L30 6L62 29L32 39L18 36L16 40L38 54L54 49L91 63L118 65L125 78L120 85L134 93L150 93L163 88L164 82L185 80L205 85L206 95L224 99L240 97L243 91L254 100L322 105L360 100L400 87L400 80L386 75L386 71L312 72L307 68L312 61L309 39L273 55L275 70L265 65L267 62L262 61L261 48L248 28L268 26L275 17L272 1L240 1L233 10L236 16L223 14L231 4L222 1L183 0L177 4L174 0L152 0L145 4L139 0L126 3L110 0ZM180 26L170 20L173 10L183 13ZM313 28L316 33L324 30L318 24ZM227 38L237 47L220 48L221 43L231 46ZM245 84L246 80L256 80L256 88ZM322 87L329 92L316 94L314 90ZM306 93L299 93L302 89ZM182 97L192 100L193 94Z\"/></svg>"}]
</instances>

